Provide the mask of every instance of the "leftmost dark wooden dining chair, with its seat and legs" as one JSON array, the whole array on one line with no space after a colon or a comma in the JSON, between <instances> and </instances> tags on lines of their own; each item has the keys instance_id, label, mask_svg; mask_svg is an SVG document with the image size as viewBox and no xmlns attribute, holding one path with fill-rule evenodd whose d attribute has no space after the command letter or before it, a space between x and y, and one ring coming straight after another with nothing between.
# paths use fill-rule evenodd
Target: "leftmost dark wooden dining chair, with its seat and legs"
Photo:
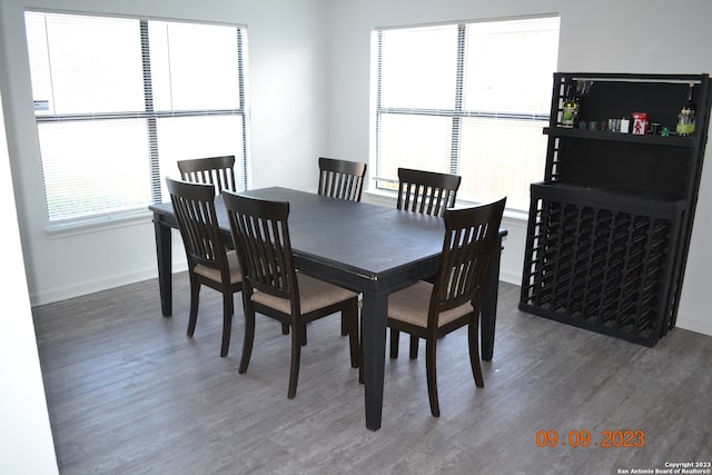
<instances>
[{"instance_id":1,"label":"leftmost dark wooden dining chair, with its seat and legs","mask_svg":"<svg viewBox=\"0 0 712 475\"><path fill-rule=\"evenodd\" d=\"M166 184L188 260L190 279L188 336L192 337L196 329L201 286L205 285L221 293L222 345L220 356L226 356L230 346L235 308L233 294L243 289L243 274L237 253L226 249L220 235L215 209L215 186L192 184L169 177L166 177Z\"/></svg>"}]
</instances>

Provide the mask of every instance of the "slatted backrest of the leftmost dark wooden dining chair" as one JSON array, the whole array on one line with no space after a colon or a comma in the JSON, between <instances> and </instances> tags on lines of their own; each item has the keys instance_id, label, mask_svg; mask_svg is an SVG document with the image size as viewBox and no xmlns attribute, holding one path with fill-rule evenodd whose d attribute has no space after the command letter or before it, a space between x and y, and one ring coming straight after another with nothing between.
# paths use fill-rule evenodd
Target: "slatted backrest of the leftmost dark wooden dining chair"
<instances>
[{"instance_id":1,"label":"slatted backrest of the leftmost dark wooden dining chair","mask_svg":"<svg viewBox=\"0 0 712 475\"><path fill-rule=\"evenodd\" d=\"M229 281L229 266L217 214L215 186L192 184L166 177L178 229L190 268L197 264L219 269Z\"/></svg>"}]
</instances>

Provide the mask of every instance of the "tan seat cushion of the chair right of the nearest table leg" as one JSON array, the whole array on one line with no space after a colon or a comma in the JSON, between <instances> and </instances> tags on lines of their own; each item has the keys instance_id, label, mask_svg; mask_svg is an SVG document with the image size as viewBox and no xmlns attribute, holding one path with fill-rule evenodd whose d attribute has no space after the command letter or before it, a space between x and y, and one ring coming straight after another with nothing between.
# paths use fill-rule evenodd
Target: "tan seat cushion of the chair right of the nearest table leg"
<instances>
[{"instance_id":1,"label":"tan seat cushion of the chair right of the nearest table leg","mask_svg":"<svg viewBox=\"0 0 712 475\"><path fill-rule=\"evenodd\" d=\"M432 293L433 284L424 280L394 291L388 296L388 318L427 328L427 313ZM437 326L442 327L471 311L474 311L474 308L469 303L443 311L437 320Z\"/></svg>"}]
</instances>

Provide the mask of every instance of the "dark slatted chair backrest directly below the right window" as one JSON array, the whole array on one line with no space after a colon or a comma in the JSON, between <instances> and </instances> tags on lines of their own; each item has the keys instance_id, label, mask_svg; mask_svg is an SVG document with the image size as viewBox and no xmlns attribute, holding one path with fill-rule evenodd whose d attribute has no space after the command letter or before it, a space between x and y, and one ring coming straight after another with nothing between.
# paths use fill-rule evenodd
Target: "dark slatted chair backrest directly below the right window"
<instances>
[{"instance_id":1,"label":"dark slatted chair backrest directly below the right window","mask_svg":"<svg viewBox=\"0 0 712 475\"><path fill-rule=\"evenodd\" d=\"M397 209L443 216L455 206L462 177L435 171L398 168Z\"/></svg>"}]
</instances>

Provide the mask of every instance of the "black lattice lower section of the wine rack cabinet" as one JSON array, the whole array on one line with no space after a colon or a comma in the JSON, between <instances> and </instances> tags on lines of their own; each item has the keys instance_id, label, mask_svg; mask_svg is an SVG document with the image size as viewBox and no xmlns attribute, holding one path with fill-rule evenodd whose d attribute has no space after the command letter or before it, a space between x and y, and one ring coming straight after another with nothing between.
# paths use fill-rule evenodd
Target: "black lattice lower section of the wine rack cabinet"
<instances>
[{"instance_id":1,"label":"black lattice lower section of the wine rack cabinet","mask_svg":"<svg viewBox=\"0 0 712 475\"><path fill-rule=\"evenodd\" d=\"M654 344L670 324L665 283L682 204L651 216L645 208L593 204L585 192L533 188L523 309Z\"/></svg>"}]
</instances>

